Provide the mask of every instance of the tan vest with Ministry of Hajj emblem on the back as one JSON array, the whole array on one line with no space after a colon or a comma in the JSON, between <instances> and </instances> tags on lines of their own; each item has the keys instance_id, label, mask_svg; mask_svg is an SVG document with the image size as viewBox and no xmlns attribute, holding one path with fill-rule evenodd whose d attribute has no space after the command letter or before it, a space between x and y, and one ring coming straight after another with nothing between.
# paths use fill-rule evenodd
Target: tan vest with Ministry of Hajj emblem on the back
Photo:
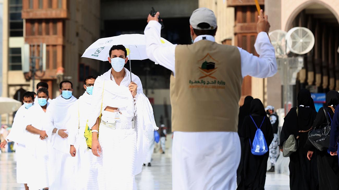
<instances>
[{"instance_id":1,"label":"tan vest with Ministry of Hajj emblem on the back","mask_svg":"<svg viewBox=\"0 0 339 190\"><path fill-rule=\"evenodd\" d=\"M172 130L237 132L241 85L237 47L207 40L176 46Z\"/></svg>"}]
</instances>

